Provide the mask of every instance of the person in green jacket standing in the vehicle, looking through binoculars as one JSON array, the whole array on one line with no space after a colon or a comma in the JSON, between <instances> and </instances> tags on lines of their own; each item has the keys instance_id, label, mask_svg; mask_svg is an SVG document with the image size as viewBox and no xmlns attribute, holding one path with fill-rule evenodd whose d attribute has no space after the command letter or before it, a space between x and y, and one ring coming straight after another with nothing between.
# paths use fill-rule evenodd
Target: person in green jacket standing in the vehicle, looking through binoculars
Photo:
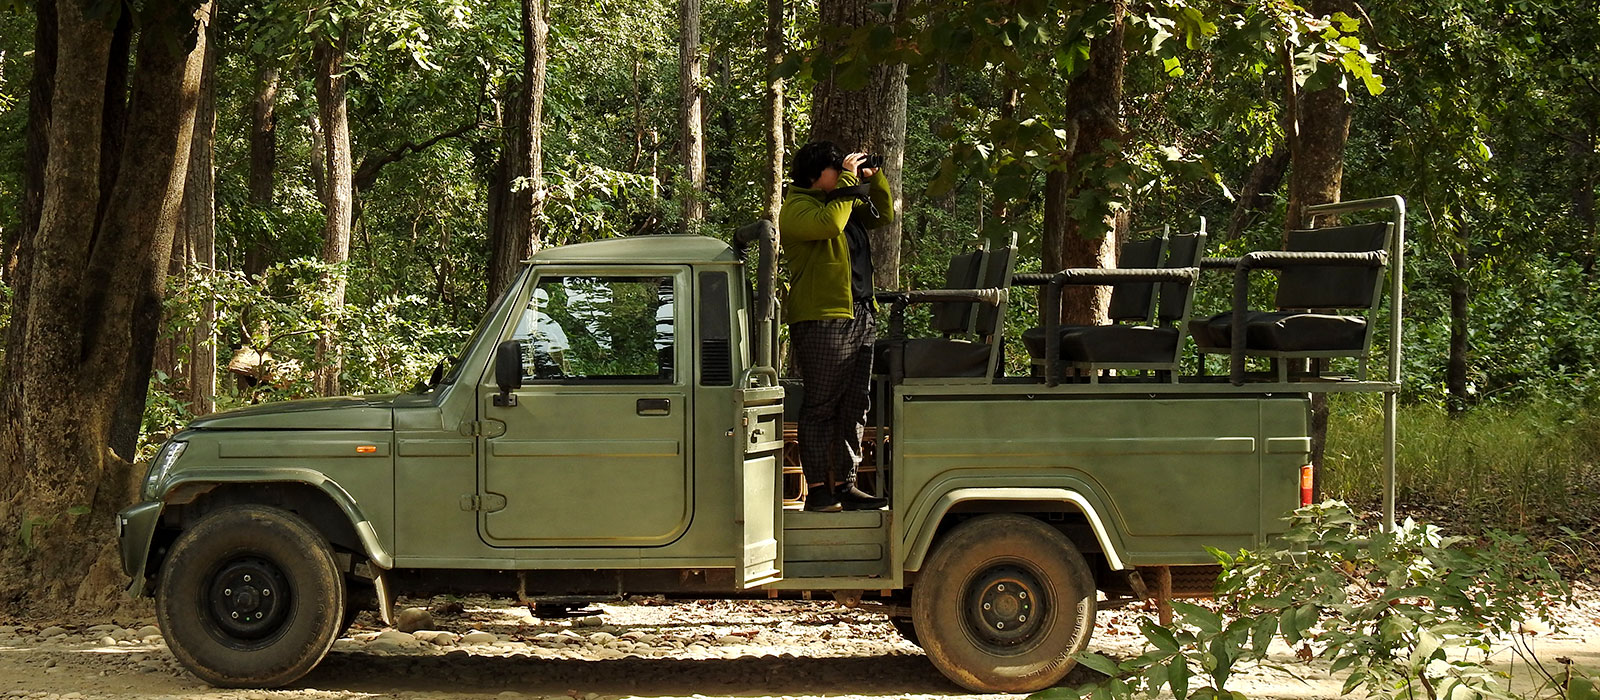
<instances>
[{"instance_id":1,"label":"person in green jacket standing in the vehicle, looking through binoculars","mask_svg":"<svg viewBox=\"0 0 1600 700\"><path fill-rule=\"evenodd\" d=\"M862 168L866 161L866 153L845 155L829 141L806 144L795 153L794 184L778 216L789 268L789 339L805 380L800 467L810 511L888 505L856 487L877 340L867 230L894 221L890 182L878 168ZM870 201L829 198L861 181L870 184Z\"/></svg>"}]
</instances>

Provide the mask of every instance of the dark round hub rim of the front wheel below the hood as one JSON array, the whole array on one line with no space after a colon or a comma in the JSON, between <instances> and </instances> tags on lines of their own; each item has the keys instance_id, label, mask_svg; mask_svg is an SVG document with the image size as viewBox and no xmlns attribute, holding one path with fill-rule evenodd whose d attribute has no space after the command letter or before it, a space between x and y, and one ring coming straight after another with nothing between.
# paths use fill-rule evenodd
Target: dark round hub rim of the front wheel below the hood
<instances>
[{"instance_id":1,"label":"dark round hub rim of the front wheel below the hood","mask_svg":"<svg viewBox=\"0 0 1600 700\"><path fill-rule=\"evenodd\" d=\"M206 580L205 612L224 641L253 646L280 633L293 607L288 577L277 563L238 556Z\"/></svg>"}]
</instances>

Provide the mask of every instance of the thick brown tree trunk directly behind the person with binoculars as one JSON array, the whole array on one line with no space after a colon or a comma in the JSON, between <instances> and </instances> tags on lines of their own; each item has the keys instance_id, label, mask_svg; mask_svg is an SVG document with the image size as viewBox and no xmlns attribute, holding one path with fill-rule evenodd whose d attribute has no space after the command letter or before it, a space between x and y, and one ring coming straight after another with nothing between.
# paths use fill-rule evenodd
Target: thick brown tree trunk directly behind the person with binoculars
<instances>
[{"instance_id":1,"label":"thick brown tree trunk directly behind the person with binoculars","mask_svg":"<svg viewBox=\"0 0 1600 700\"><path fill-rule=\"evenodd\" d=\"M906 0L890 2L890 14L883 16L874 0L819 0L818 14L822 26L822 53L845 54L845 35L851 29L891 22ZM866 152L883 157L883 171L890 181L894 208L904 213L901 169L906 165L906 64L872 66L867 69L867 85L861 89L843 89L834 74L819 77L811 96L811 141L832 141L842 150ZM870 232L875 262L874 283L880 289L899 288L901 217Z\"/></svg>"}]
</instances>

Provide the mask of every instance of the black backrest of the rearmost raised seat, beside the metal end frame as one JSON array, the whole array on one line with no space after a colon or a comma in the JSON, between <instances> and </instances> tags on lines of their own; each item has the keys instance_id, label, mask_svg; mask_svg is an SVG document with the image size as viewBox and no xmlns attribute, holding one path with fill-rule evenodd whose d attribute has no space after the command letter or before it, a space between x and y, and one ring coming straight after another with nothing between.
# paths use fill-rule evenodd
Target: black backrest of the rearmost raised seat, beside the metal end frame
<instances>
[{"instance_id":1,"label":"black backrest of the rearmost raised seat, beside the metal end frame","mask_svg":"<svg viewBox=\"0 0 1600 700\"><path fill-rule=\"evenodd\" d=\"M1291 230L1288 251L1368 253L1387 251L1389 222ZM1278 275L1278 308L1370 308L1378 302L1381 267L1290 267Z\"/></svg>"}]
</instances>

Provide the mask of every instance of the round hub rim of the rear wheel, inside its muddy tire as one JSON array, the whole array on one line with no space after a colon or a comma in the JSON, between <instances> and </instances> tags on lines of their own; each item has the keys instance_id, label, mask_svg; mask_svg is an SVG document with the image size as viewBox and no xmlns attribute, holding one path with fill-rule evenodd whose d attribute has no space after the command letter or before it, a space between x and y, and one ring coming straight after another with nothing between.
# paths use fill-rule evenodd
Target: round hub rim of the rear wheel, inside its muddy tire
<instances>
[{"instance_id":1,"label":"round hub rim of the rear wheel, inside its muddy tire","mask_svg":"<svg viewBox=\"0 0 1600 700\"><path fill-rule=\"evenodd\" d=\"M1022 654L1045 636L1050 591L1032 567L1014 561L989 566L963 593L963 626L990 654Z\"/></svg>"}]
</instances>

